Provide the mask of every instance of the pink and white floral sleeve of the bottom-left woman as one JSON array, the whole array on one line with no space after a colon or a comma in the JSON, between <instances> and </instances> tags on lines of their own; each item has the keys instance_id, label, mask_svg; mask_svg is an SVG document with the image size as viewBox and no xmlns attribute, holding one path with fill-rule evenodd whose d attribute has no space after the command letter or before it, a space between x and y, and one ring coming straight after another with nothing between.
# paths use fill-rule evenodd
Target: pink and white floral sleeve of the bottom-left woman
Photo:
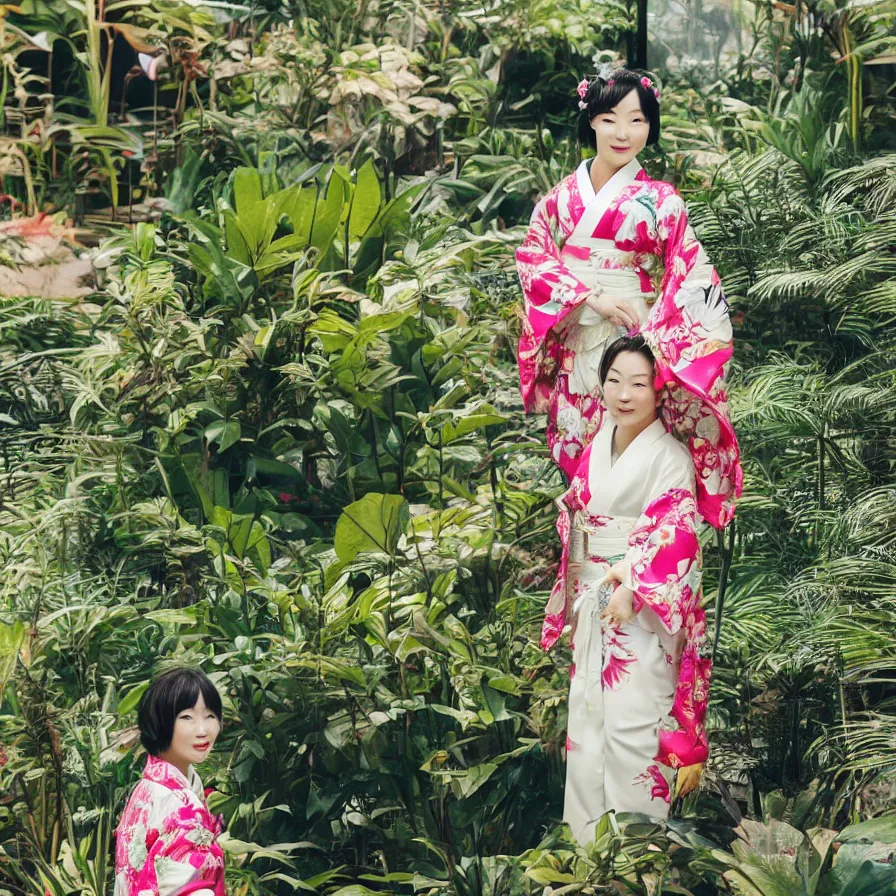
<instances>
[{"instance_id":1,"label":"pink and white floral sleeve of the bottom-left woman","mask_svg":"<svg viewBox=\"0 0 896 896\"><path fill-rule=\"evenodd\" d=\"M220 826L207 810L180 805L165 818L151 850L159 896L223 896Z\"/></svg>"}]
</instances>

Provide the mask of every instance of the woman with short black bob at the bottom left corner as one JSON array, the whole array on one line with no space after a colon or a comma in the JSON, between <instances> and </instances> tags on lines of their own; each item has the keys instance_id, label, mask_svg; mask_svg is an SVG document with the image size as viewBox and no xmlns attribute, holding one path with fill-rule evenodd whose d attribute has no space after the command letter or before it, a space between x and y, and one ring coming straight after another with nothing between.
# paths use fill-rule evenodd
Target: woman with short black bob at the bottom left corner
<instances>
[{"instance_id":1,"label":"woman with short black bob at the bottom left corner","mask_svg":"<svg viewBox=\"0 0 896 896\"><path fill-rule=\"evenodd\" d=\"M221 696L198 669L171 669L137 717L149 756L116 831L114 896L224 896L221 823L193 768L221 731Z\"/></svg>"}]
</instances>

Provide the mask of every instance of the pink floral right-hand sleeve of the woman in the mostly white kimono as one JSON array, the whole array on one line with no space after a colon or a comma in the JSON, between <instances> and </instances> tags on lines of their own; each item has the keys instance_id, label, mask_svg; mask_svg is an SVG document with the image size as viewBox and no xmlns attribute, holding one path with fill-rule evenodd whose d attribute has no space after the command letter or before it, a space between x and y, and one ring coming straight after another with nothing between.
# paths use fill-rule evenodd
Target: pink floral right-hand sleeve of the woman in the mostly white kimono
<instances>
[{"instance_id":1,"label":"pink floral right-hand sleeve of the woman in the mostly white kimono","mask_svg":"<svg viewBox=\"0 0 896 896\"><path fill-rule=\"evenodd\" d=\"M705 762L706 707L712 661L701 655L706 614L701 607L702 555L693 494L673 488L653 501L629 537L627 559L636 611L649 607L683 648L670 716L660 727L656 758L672 768Z\"/></svg>"}]
</instances>

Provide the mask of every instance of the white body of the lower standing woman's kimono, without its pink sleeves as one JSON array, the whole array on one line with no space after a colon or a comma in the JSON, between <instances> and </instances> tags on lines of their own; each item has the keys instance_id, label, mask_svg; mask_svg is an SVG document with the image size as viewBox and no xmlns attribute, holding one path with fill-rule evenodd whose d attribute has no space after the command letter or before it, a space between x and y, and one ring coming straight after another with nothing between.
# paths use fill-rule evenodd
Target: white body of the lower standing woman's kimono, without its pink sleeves
<instances>
[{"instance_id":1,"label":"white body of the lower standing woman's kimono, without its pink sleeves","mask_svg":"<svg viewBox=\"0 0 896 896\"><path fill-rule=\"evenodd\" d=\"M587 503L572 519L567 567L574 635L563 820L582 843L593 839L596 820L611 809L664 818L675 773L657 760L661 728L678 728L670 713L685 629L679 620L671 633L649 601L639 600L631 577L626 584L635 592L634 620L616 625L598 616L610 596L601 587L608 564L624 555L632 561L630 536L653 502L672 490L693 495L694 464L659 420L613 463L614 430L604 426L583 456L587 469L580 467L578 475L587 477ZM575 530L586 533L583 549L577 549ZM684 563L699 576L698 561ZM697 593L699 579L692 585Z\"/></svg>"}]
</instances>

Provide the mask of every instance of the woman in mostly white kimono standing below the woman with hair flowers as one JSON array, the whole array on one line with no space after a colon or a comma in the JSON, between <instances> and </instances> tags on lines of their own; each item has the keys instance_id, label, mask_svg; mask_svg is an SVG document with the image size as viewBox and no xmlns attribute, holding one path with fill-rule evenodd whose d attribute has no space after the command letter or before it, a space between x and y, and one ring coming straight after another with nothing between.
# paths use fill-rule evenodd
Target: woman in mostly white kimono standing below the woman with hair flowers
<instances>
[{"instance_id":1,"label":"woman in mostly white kimono standing below the woman with hair flowers","mask_svg":"<svg viewBox=\"0 0 896 896\"><path fill-rule=\"evenodd\" d=\"M558 499L560 575L542 645L572 630L563 819L580 842L605 812L668 813L699 782L711 663L700 653L701 555L690 453L658 416L650 348L606 350L609 419Z\"/></svg>"}]
</instances>

